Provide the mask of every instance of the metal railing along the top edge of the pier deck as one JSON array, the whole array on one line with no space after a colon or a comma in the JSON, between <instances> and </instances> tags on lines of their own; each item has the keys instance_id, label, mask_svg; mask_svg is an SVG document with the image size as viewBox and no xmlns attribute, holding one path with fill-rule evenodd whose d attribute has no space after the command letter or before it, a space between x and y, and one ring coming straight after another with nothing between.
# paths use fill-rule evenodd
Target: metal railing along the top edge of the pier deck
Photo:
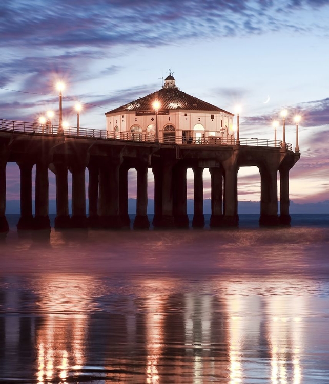
<instances>
[{"instance_id":1,"label":"metal railing along the top edge of the pier deck","mask_svg":"<svg viewBox=\"0 0 329 384\"><path fill-rule=\"evenodd\" d=\"M40 124L30 123L24 121L13 121L0 119L0 131L5 132L23 132L34 135L57 135L58 125L53 124ZM126 140L126 141L139 141L147 143L161 143L161 144L179 144L179 145L235 145L236 138L233 136L219 137L209 136L203 137L176 137L159 135L158 140L154 133L136 133L136 132L108 132L104 130L95 130L91 128L65 127L63 129L64 136L79 137L79 138L95 138L106 140ZM240 145L243 146L266 146L266 147L282 147L281 140L267 140L251 138L240 138ZM286 143L286 148L292 151L292 144Z\"/></svg>"}]
</instances>

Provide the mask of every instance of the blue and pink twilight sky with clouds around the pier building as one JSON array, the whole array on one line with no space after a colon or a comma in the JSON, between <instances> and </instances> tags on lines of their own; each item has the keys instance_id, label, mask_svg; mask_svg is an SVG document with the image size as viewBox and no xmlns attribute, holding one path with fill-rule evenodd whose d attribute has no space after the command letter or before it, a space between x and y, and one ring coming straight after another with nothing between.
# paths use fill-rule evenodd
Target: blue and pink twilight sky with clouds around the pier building
<instances>
[{"instance_id":1,"label":"blue and pink twilight sky with clouds around the pier building","mask_svg":"<svg viewBox=\"0 0 329 384\"><path fill-rule=\"evenodd\" d=\"M64 119L76 125L79 101L80 126L105 129L105 112L160 89L171 68L182 91L233 113L239 104L241 138L274 139L272 122L287 109L286 142L295 148L300 114L290 198L329 200L328 19L327 0L1 2L0 118L56 112L55 83L63 80ZM134 180L131 173L130 197ZM205 198L209 183L207 172ZM190 176L188 186L193 197ZM257 168L239 171L238 189L239 200L259 200ZM10 163L7 199L18 197Z\"/></svg>"}]
</instances>

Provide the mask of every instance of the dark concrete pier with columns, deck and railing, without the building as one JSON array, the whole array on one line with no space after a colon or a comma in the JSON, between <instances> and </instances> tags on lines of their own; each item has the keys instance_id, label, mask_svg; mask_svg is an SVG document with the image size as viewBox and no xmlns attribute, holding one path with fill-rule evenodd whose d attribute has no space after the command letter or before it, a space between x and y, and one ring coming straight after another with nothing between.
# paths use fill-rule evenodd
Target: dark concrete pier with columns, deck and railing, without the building
<instances>
[{"instance_id":1,"label":"dark concrete pier with columns, deck and railing, without the building","mask_svg":"<svg viewBox=\"0 0 329 384\"><path fill-rule=\"evenodd\" d=\"M260 225L289 224L289 172L300 158L292 145L279 140L239 138L231 141L157 142L148 136L117 135L101 130L65 129L0 120L0 228L8 231L6 164L20 171L19 230L49 229L48 169L56 175L55 228L121 228L130 225L128 170L137 170L134 228L149 228L147 172L154 174L153 226L188 227L187 169L194 173L193 227L203 227L203 168L211 174L211 227L238 225L237 174L257 166L260 173ZM199 141L198 141L199 140ZM35 215L32 214L32 168L35 165ZM86 168L89 180L85 180ZM68 172L72 174L72 215L69 215ZM280 176L278 212L277 174ZM88 185L88 188L86 188ZM88 189L88 190L87 190ZM86 211L86 196L89 210Z\"/></svg>"}]
</instances>

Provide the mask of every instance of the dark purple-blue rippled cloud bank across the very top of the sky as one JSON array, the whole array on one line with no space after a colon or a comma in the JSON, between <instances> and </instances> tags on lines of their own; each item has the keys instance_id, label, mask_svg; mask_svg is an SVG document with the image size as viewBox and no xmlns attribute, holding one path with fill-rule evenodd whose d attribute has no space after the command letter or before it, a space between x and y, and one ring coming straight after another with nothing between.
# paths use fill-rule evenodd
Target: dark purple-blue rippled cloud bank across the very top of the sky
<instances>
[{"instance_id":1,"label":"dark purple-blue rippled cloud bank across the very top of the sky","mask_svg":"<svg viewBox=\"0 0 329 384\"><path fill-rule=\"evenodd\" d=\"M140 0L93 2L59 0L2 4L0 46L154 47L189 38L213 38L291 30L310 32L315 25L299 23L287 13L322 9L325 1L264 0ZM326 27L326 26L324 26ZM326 29L327 32L327 29Z\"/></svg>"}]
</instances>

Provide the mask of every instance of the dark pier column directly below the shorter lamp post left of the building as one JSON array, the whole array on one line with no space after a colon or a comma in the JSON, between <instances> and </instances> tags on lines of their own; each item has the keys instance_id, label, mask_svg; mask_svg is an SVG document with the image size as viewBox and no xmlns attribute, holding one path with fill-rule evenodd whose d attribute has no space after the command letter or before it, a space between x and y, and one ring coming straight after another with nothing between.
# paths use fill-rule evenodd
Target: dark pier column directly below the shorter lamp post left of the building
<instances>
[{"instance_id":1,"label":"dark pier column directly below the shorter lamp post left of the building","mask_svg":"<svg viewBox=\"0 0 329 384\"><path fill-rule=\"evenodd\" d=\"M75 163L70 166L72 174L72 228L86 228L86 165Z\"/></svg>"}]
</instances>

